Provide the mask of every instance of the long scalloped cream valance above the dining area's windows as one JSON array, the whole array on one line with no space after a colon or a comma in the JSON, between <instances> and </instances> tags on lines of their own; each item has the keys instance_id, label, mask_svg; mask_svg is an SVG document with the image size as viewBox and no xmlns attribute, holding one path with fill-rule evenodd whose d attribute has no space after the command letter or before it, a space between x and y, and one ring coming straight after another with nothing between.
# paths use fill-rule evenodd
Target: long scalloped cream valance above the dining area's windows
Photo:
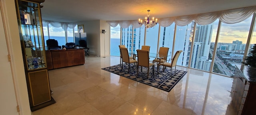
<instances>
[{"instance_id":1,"label":"long scalloped cream valance above the dining area's windows","mask_svg":"<svg viewBox=\"0 0 256 115\"><path fill-rule=\"evenodd\" d=\"M200 25L208 25L217 19L219 19L221 22L226 24L234 24L234 23L238 23L246 20L247 18L252 16L252 14L254 13L256 13L256 6L238 8L238 9L232 9L232 10L223 10L218 12L204 13L204 14L160 18L158 19L158 24L163 27L168 27L172 25L172 23L175 23L178 26L186 26L190 24L192 21L195 21L197 24L200 24ZM118 24L122 28L128 28L130 25L132 25L135 28L140 27L140 25L138 24L138 20L107 21L107 22L112 27L116 27Z\"/></svg>"}]
</instances>

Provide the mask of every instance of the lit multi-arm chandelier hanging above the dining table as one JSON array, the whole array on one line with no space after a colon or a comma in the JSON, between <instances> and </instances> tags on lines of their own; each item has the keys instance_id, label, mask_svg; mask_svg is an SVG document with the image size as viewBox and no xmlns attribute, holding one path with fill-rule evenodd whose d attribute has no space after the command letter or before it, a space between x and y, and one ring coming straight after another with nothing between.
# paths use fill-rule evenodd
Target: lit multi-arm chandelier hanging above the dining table
<instances>
[{"instance_id":1,"label":"lit multi-arm chandelier hanging above the dining table","mask_svg":"<svg viewBox=\"0 0 256 115\"><path fill-rule=\"evenodd\" d=\"M152 27L154 27L154 26L156 26L156 24L157 24L157 19L156 20L154 20L154 17L152 18L152 20L149 20L149 12L150 12L150 10L148 10L148 17L145 17L145 21L144 21L144 25L145 25L145 27L148 29L148 28L152 28ZM142 23L142 19L140 20L139 19L139 25L140 26L142 26L143 25L143 23Z\"/></svg>"}]
</instances>

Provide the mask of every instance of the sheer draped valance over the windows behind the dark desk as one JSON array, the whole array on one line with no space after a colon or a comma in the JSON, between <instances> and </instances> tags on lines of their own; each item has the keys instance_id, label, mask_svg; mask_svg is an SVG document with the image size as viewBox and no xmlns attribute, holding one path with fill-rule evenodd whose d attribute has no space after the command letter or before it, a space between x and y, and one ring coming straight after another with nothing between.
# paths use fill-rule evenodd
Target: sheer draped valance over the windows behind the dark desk
<instances>
[{"instance_id":1,"label":"sheer draped valance over the windows behind the dark desk","mask_svg":"<svg viewBox=\"0 0 256 115\"><path fill-rule=\"evenodd\" d=\"M56 21L48 21L48 20L42 20L43 26L48 26L51 24L55 28L60 28L64 31L67 31L68 28L75 28L77 23L70 23L70 22L56 22Z\"/></svg>"}]
</instances>

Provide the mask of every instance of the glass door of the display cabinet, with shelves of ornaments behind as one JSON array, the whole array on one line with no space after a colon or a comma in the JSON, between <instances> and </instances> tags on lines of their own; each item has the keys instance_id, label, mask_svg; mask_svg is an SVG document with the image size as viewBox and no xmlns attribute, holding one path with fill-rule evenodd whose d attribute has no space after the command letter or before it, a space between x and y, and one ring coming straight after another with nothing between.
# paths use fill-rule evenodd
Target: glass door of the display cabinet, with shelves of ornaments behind
<instances>
[{"instance_id":1,"label":"glass door of the display cabinet, with shelves of ornaments behind","mask_svg":"<svg viewBox=\"0 0 256 115\"><path fill-rule=\"evenodd\" d=\"M24 43L27 69L34 70L46 67L44 54L44 36L40 17L40 4L18 0L20 13L21 41Z\"/></svg>"}]
</instances>

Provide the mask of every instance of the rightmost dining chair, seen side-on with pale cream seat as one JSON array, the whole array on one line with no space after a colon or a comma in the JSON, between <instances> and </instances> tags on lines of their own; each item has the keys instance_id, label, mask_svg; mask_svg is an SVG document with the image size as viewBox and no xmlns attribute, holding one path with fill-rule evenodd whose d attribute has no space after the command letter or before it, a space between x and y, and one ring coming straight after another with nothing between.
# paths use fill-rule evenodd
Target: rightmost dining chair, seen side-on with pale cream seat
<instances>
[{"instance_id":1,"label":"rightmost dining chair, seen side-on with pale cream seat","mask_svg":"<svg viewBox=\"0 0 256 115\"><path fill-rule=\"evenodd\" d=\"M178 58L179 58L181 52L182 52L182 50L179 50L179 51L177 51L177 52L174 54L174 57L171 59L171 63L169 63L169 62L160 63L160 64L158 65L157 70L159 70L160 66L162 65L162 66L163 66L163 71L166 69L166 67L170 67L170 68L171 68L171 73L172 73L172 67L175 66L175 69L174 69L174 72L175 72L175 71L176 71L177 60L178 60Z\"/></svg>"}]
</instances>

